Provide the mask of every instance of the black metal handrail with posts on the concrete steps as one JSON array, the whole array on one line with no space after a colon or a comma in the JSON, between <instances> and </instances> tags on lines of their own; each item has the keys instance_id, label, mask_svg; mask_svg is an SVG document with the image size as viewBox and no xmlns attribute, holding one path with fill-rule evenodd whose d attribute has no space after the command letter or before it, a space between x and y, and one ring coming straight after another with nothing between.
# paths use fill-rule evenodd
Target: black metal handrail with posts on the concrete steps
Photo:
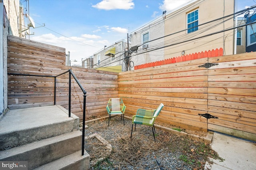
<instances>
[{"instance_id":1,"label":"black metal handrail with posts on the concrete steps","mask_svg":"<svg viewBox=\"0 0 256 170\"><path fill-rule=\"evenodd\" d=\"M78 83L79 87L84 93L84 106L83 106L83 130L82 130L82 155L84 155L84 137L85 137L85 106L86 106L86 91L74 75L71 69L68 71L65 71L64 73L61 73L59 75L34 75L34 74L22 74L22 73L8 73L9 75L24 75L24 76L32 76L32 77L53 77L54 78L54 105L56 105L56 78L60 75L69 73L69 89L68 89L68 117L71 117L71 75L76 80L76 83Z\"/></svg>"}]
</instances>

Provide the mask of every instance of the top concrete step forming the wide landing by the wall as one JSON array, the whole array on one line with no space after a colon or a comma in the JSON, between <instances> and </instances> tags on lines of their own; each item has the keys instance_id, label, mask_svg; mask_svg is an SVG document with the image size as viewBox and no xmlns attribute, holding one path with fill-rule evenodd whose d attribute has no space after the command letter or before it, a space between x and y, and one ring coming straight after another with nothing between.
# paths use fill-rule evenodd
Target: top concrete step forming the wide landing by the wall
<instances>
[{"instance_id":1,"label":"top concrete step forming the wide landing by the wall","mask_svg":"<svg viewBox=\"0 0 256 170\"><path fill-rule=\"evenodd\" d=\"M79 117L60 105L13 109L0 121L0 150L79 129Z\"/></svg>"}]
</instances>

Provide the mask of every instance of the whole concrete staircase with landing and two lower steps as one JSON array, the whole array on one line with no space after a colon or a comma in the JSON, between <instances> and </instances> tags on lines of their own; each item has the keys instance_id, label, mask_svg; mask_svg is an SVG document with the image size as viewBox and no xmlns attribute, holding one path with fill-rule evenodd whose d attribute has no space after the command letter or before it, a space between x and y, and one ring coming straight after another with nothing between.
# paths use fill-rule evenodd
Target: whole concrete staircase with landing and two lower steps
<instances>
[{"instance_id":1,"label":"whole concrete staircase with landing and two lower steps","mask_svg":"<svg viewBox=\"0 0 256 170\"><path fill-rule=\"evenodd\" d=\"M0 148L1 161L28 161L28 170L90 169L79 118L58 105L10 110L0 121Z\"/></svg>"}]
</instances>

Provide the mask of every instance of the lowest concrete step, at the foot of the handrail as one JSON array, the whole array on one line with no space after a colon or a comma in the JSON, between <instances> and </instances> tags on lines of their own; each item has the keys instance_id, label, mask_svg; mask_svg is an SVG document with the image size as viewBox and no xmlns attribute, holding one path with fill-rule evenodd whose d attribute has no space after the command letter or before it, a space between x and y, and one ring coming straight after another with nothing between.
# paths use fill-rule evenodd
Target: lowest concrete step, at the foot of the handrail
<instances>
[{"instance_id":1,"label":"lowest concrete step, at the foot of the handrail","mask_svg":"<svg viewBox=\"0 0 256 170\"><path fill-rule=\"evenodd\" d=\"M34 170L89 170L90 169L90 155L84 150L77 151L73 154L64 156L58 160L44 164Z\"/></svg>"}]
</instances>

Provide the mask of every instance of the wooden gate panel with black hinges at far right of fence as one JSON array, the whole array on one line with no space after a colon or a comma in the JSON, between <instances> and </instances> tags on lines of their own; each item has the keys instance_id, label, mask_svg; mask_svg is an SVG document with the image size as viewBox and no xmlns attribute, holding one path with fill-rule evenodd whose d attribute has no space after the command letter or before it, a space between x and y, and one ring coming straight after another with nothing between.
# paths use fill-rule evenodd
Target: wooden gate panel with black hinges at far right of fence
<instances>
[{"instance_id":1,"label":"wooden gate panel with black hinges at far right of fence","mask_svg":"<svg viewBox=\"0 0 256 170\"><path fill-rule=\"evenodd\" d=\"M256 53L209 58L208 129L256 140Z\"/></svg>"}]
</instances>

